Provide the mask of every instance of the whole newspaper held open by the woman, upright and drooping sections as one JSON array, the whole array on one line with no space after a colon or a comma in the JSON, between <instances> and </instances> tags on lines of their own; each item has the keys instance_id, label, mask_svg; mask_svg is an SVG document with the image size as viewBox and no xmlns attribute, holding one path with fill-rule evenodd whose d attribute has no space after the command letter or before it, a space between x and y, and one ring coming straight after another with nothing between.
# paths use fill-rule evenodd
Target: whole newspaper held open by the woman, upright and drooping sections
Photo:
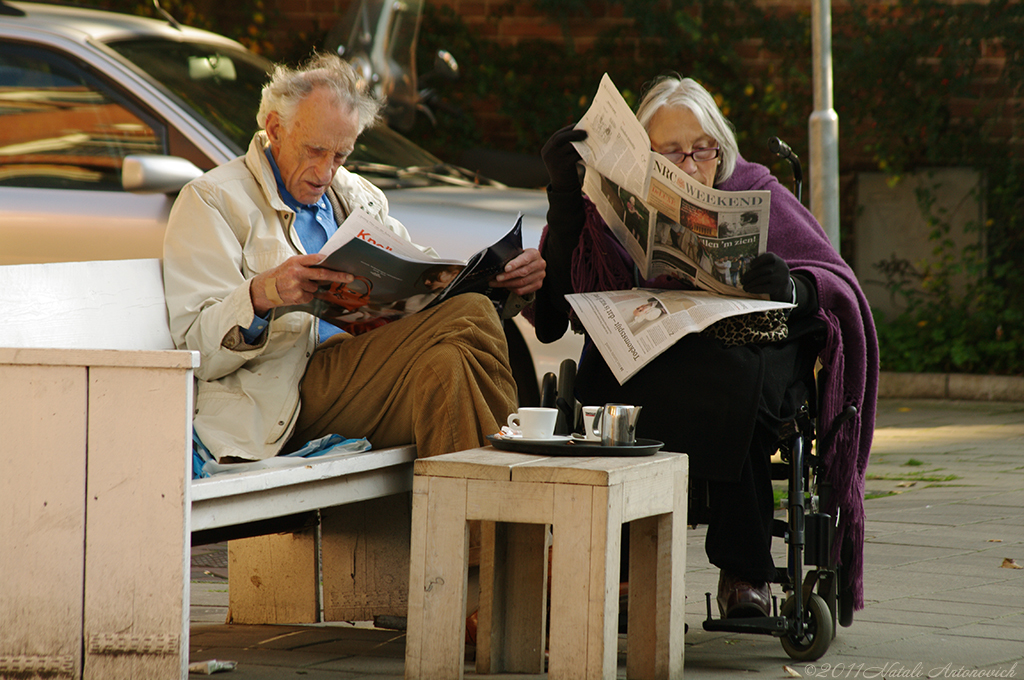
<instances>
[{"instance_id":1,"label":"whole newspaper held open by the woman, upright and drooping sections","mask_svg":"<svg viewBox=\"0 0 1024 680\"><path fill-rule=\"evenodd\" d=\"M769 192L721 192L660 154L607 74L575 126L584 192L645 280L674 277L699 290L634 289L567 295L620 384L688 333L727 316L793 305L740 287L766 252Z\"/></svg>"}]
</instances>

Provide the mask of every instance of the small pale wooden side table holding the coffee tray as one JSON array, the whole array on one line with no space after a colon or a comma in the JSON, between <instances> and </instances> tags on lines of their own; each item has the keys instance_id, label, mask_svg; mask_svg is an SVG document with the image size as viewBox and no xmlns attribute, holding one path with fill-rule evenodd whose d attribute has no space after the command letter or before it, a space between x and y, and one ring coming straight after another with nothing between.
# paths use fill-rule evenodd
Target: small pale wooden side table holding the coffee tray
<instances>
[{"instance_id":1,"label":"small pale wooden side table holding the coffee tray","mask_svg":"<svg viewBox=\"0 0 1024 680\"><path fill-rule=\"evenodd\" d=\"M492 448L417 460L406 677L463 677L468 522L482 520L478 673L614 678L621 525L631 523L627 673L681 678L687 459Z\"/></svg>"}]
</instances>

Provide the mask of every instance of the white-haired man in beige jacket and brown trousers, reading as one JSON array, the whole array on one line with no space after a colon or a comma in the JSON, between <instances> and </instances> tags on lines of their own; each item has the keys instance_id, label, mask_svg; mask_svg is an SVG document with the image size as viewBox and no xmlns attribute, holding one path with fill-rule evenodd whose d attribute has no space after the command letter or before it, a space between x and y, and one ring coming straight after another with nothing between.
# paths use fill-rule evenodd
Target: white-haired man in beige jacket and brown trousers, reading
<instances>
[{"instance_id":1,"label":"white-haired man in beige jacket and brown trousers, reading","mask_svg":"<svg viewBox=\"0 0 1024 680\"><path fill-rule=\"evenodd\" d=\"M164 241L171 332L202 355L194 425L220 462L269 458L327 434L416 443L432 456L485 443L515 411L504 333L483 296L358 336L276 311L309 302L322 283L352 281L313 267L351 211L410 240L383 193L342 167L380 110L335 55L279 67L248 153L187 184L174 204ZM524 251L496 285L529 294L545 266Z\"/></svg>"}]
</instances>

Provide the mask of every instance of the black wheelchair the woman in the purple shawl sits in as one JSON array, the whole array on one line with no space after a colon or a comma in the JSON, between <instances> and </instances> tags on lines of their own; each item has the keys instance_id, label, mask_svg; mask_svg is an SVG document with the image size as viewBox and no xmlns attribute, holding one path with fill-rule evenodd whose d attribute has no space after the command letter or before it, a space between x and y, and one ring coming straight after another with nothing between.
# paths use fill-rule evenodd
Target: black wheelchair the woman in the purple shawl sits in
<instances>
[{"instance_id":1,"label":"black wheelchair the woman in the purple shawl sits in","mask_svg":"<svg viewBox=\"0 0 1024 680\"><path fill-rule=\"evenodd\" d=\"M769 148L790 162L796 178L797 198L801 198L800 161L777 137L769 140ZM549 373L541 384L541 406L559 411L556 432L567 434L577 430L580 405L573 396L577 364L565 359L558 376ZM850 563L853 552L851 539L844 540L834 550L839 517L821 511L827 507L830 484L823 470L825 453L831 448L839 428L853 418L857 410L846 409L831 423L820 422L818 395L825 384L823 370L804 376L807 398L778 441L778 453L772 458L772 478L786 479L788 486L784 507L785 520L775 519L772 535L784 540L786 563L776 564L773 584L786 594L779 606L772 597L772 615L744 619L715 619L712 614L712 593L706 593L708 617L706 631L771 635L779 638L790 657L798 661L820 658L835 639L837 624L853 624L854 596L844 587L842 564ZM707 499L707 483L691 480L687 523L697 525L707 514L701 511ZM836 552L839 558L835 557ZM805 569L805 567L810 567ZM622 617L622 612L621 612Z\"/></svg>"}]
</instances>

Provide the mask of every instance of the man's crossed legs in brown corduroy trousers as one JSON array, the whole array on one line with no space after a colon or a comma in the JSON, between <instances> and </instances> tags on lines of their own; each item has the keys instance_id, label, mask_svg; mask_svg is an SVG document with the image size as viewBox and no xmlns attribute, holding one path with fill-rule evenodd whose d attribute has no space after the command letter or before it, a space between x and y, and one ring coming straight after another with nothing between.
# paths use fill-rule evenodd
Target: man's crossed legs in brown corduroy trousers
<instances>
[{"instance_id":1,"label":"man's crossed legs in brown corduroy trousers","mask_svg":"<svg viewBox=\"0 0 1024 680\"><path fill-rule=\"evenodd\" d=\"M376 449L416 443L421 457L485 444L517 403L501 322L476 294L332 338L310 357L301 395L289 450L341 434Z\"/></svg>"}]
</instances>

